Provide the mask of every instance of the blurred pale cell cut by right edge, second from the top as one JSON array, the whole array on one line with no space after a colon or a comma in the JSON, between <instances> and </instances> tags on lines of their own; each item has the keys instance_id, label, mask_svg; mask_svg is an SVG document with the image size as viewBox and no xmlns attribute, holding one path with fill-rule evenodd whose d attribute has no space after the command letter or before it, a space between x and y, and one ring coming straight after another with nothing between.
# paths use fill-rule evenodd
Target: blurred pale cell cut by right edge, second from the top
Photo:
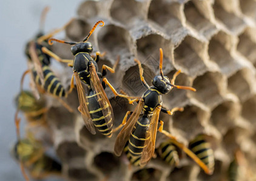
<instances>
[{"instance_id":1,"label":"blurred pale cell cut by right edge, second from the top","mask_svg":"<svg viewBox=\"0 0 256 181\"><path fill-rule=\"evenodd\" d=\"M256 63L256 43L252 41L252 38L248 36L246 32L240 34L239 43L237 45L237 50L243 54L250 62ZM255 66L255 65L254 65Z\"/></svg>"}]
</instances>

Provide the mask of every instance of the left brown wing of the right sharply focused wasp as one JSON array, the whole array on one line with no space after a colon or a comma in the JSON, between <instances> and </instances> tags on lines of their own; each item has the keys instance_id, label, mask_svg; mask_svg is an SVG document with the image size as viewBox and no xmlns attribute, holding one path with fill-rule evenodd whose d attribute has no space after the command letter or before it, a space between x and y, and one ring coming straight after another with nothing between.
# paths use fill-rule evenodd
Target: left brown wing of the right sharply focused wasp
<instances>
[{"instance_id":1,"label":"left brown wing of the right sharply focused wasp","mask_svg":"<svg viewBox=\"0 0 256 181\"><path fill-rule=\"evenodd\" d=\"M115 154L120 156L124 150L124 146L129 139L130 134L132 133L133 127L138 120L141 110L143 109L144 101L140 99L140 102L136 106L134 112L128 119L127 123L124 125L123 129L119 133L115 142Z\"/></svg>"}]
</instances>

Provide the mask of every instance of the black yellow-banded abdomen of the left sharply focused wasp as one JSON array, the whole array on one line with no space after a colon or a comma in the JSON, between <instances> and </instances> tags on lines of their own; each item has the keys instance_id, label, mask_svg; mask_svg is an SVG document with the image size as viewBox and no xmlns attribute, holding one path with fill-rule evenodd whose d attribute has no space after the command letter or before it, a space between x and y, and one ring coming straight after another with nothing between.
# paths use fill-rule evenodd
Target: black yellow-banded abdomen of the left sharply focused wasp
<instances>
[{"instance_id":1,"label":"black yellow-banded abdomen of the left sharply focused wasp","mask_svg":"<svg viewBox=\"0 0 256 181\"><path fill-rule=\"evenodd\" d=\"M89 94L87 95L87 101L89 113L92 118L93 124L103 135L110 136L112 134L113 125L110 129L107 127L107 122L105 119L106 117L103 115L102 112L102 110L107 109L107 107L100 106L98 102L100 100L98 100L97 95L95 94L95 92L93 92L92 89L89 91ZM109 104L107 104L107 106L109 106ZM110 116L110 112L108 116ZM110 118L110 121L112 121L111 119L112 118Z\"/></svg>"}]
</instances>

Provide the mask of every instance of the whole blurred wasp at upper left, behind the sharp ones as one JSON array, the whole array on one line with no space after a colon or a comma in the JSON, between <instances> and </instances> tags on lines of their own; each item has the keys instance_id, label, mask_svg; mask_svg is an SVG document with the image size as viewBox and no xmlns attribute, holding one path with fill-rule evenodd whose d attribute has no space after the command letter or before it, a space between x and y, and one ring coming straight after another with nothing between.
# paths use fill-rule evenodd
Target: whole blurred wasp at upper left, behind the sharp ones
<instances>
[{"instance_id":1,"label":"whole blurred wasp at upper left, behind the sharp ones","mask_svg":"<svg viewBox=\"0 0 256 181\"><path fill-rule=\"evenodd\" d=\"M50 56L42 52L43 47L50 49L46 40L54 34L64 30L72 20L62 28L44 35L44 33L42 33L42 27L44 25L45 14L48 10L49 7L45 7L42 11L39 33L36 34L35 38L30 40L25 46L25 55L28 59L29 70L25 71L24 74L32 73L30 85L32 86L33 92L36 92L35 95L37 98L39 98L38 90L41 93L48 92L50 95L53 95L53 97L57 98L70 112L72 112L72 109L60 99L60 97L67 97L67 94L58 77L56 77L49 67Z\"/></svg>"}]
</instances>

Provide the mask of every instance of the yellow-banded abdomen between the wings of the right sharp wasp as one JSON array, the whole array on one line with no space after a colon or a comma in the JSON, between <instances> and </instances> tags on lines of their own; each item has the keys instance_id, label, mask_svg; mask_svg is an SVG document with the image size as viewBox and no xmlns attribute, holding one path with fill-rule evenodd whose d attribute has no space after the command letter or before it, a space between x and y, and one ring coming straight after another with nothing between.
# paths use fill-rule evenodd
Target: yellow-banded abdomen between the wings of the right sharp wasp
<instances>
[{"instance_id":1,"label":"yellow-banded abdomen between the wings of the right sharp wasp","mask_svg":"<svg viewBox=\"0 0 256 181\"><path fill-rule=\"evenodd\" d=\"M149 130L150 120L147 116L143 116L138 119L135 124L134 130L130 135L129 143L128 143L128 150L131 156L141 157L143 152L143 148L146 147L145 141L147 130Z\"/></svg>"}]
</instances>

